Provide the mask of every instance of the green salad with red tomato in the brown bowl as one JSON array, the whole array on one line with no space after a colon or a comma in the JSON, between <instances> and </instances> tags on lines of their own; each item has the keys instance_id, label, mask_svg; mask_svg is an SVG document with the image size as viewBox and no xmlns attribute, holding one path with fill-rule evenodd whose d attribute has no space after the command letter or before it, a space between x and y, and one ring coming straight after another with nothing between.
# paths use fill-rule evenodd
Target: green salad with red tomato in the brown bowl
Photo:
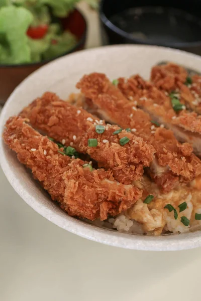
<instances>
[{"instance_id":1,"label":"green salad with red tomato in the brown bowl","mask_svg":"<svg viewBox=\"0 0 201 301\"><path fill-rule=\"evenodd\" d=\"M72 49L76 37L60 19L79 0L0 0L0 64L52 59Z\"/></svg>"}]
</instances>

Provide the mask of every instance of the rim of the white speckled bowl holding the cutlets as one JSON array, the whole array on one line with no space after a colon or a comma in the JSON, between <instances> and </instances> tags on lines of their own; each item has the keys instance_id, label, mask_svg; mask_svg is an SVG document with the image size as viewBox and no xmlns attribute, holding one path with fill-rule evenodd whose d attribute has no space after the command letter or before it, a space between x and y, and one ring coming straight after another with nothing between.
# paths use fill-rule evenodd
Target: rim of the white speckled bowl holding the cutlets
<instances>
[{"instance_id":1,"label":"rim of the white speckled bowl holding the cutlets","mask_svg":"<svg viewBox=\"0 0 201 301\"><path fill-rule=\"evenodd\" d=\"M146 51L149 50L156 50L161 49L164 52L170 52L176 53L176 54L185 54L190 59L196 59L199 60L201 64L201 58L198 55L190 54L185 51L181 50L175 50L160 46L148 46L148 45L131 45L131 44L124 44L124 45L110 45L110 46L103 46L98 47L94 49L87 49L82 50L79 52L72 53L66 57L69 59L74 56L79 56L82 53L90 54L91 52L100 52L102 50L108 50L113 51L117 50L117 48L124 51L125 48L137 48L142 50L143 48L146 49ZM105 52L104 52L105 53ZM10 103L15 99L15 93L18 89L21 89L21 87L29 81L31 77L34 77L37 72L40 72L41 70L44 70L46 68L49 68L50 65L57 64L58 61L62 62L66 59L66 57L61 57L57 59L56 61L50 62L45 66L42 66L40 69L34 71L31 75L29 75L18 87L13 91L13 93L10 95L8 101L6 102L2 113L0 115L0 132L4 129L4 120L5 115L7 114L7 108L10 106ZM105 228L99 228L90 224L86 224L80 220L77 220L76 218L70 217L67 214L64 217L59 216L57 217L57 214L53 214L51 217L51 209L47 208L45 204L38 204L36 201L36 198L30 195L27 191L23 191L21 189L21 180L19 178L15 178L14 171L12 169L12 165L9 163L9 161L6 158L5 150L4 150L5 143L3 139L0 140L0 164L2 166L2 169L10 182L10 184L13 186L15 191L22 197L22 199L30 206L32 207L36 212L38 212L40 215L45 217L46 219L50 220L57 226L71 232L74 234L77 234L81 237L100 242L103 244L116 246L116 247L122 247L127 249L135 249L135 250L151 250L151 251L173 251L173 250L184 250L184 249L191 249L195 247L201 246L201 231L196 232L190 232L190 233L182 233L182 234L171 234L171 235L165 235L165 236L159 236L159 237L153 237L153 236L142 236L142 235L131 235L126 233L119 233L115 231L111 231L109 229ZM32 202L34 200L34 202ZM49 216L48 216L49 215Z\"/></svg>"}]
</instances>

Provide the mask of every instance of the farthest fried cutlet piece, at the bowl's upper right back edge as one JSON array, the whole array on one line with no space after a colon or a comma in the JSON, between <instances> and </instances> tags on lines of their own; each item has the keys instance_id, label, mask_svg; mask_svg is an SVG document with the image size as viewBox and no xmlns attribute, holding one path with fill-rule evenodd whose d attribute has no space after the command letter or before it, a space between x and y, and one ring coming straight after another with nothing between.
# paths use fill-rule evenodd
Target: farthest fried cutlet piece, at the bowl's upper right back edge
<instances>
[{"instance_id":1,"label":"farthest fried cutlet piece, at the bowl's upper right back edge","mask_svg":"<svg viewBox=\"0 0 201 301\"><path fill-rule=\"evenodd\" d=\"M201 76L188 77L183 67L168 63L152 68L151 81L163 91L178 93L181 103L201 114Z\"/></svg>"}]
</instances>

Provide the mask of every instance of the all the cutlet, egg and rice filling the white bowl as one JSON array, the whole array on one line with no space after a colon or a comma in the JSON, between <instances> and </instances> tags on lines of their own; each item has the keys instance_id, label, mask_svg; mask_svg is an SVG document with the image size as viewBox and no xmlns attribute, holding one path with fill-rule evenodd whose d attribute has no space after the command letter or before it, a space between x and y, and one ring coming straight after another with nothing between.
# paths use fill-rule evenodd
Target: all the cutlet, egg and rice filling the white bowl
<instances>
[{"instance_id":1,"label":"all the cutlet, egg and rice filling the white bowl","mask_svg":"<svg viewBox=\"0 0 201 301\"><path fill-rule=\"evenodd\" d=\"M193 77L179 77L174 70L181 67L172 64L154 68L149 82L133 76L112 83L105 74L85 75L77 83L81 93L68 102L47 92L7 121L5 142L69 215L126 233L200 227L201 161L193 143L180 142L166 129L170 119L158 110L164 106L167 118L173 110L172 120L191 116L189 98L179 95L183 85L194 95ZM161 77L179 85L178 95L157 87Z\"/></svg>"}]
</instances>

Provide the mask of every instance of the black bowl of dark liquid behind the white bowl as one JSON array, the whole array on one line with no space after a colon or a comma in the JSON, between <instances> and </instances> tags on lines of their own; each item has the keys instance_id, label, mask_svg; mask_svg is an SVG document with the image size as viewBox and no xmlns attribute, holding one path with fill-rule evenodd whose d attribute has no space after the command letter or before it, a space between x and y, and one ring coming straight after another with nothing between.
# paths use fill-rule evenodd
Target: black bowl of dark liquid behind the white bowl
<instances>
[{"instance_id":1,"label":"black bowl of dark liquid behind the white bowl","mask_svg":"<svg viewBox=\"0 0 201 301\"><path fill-rule=\"evenodd\" d=\"M201 55L201 0L102 0L103 44L147 44Z\"/></svg>"}]
</instances>

